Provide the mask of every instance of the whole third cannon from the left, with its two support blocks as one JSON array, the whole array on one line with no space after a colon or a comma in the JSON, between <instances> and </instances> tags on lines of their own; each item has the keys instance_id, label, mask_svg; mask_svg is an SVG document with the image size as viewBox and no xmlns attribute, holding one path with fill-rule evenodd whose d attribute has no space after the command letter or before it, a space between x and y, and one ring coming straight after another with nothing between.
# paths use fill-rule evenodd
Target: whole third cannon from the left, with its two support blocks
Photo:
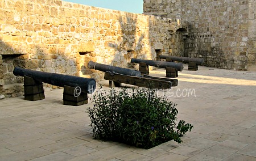
<instances>
[{"instance_id":1,"label":"whole third cannon from the left, with its two support blocks","mask_svg":"<svg viewBox=\"0 0 256 161\"><path fill-rule=\"evenodd\" d=\"M166 69L166 77L167 78L175 78L178 77L177 71L183 70L183 63L175 63L175 62L168 62L168 61L154 61L154 60L140 60L131 58L131 63L139 63L139 70L143 73L148 72L148 66L155 66L155 67L162 67ZM146 70L145 69L146 67Z\"/></svg>"}]
</instances>

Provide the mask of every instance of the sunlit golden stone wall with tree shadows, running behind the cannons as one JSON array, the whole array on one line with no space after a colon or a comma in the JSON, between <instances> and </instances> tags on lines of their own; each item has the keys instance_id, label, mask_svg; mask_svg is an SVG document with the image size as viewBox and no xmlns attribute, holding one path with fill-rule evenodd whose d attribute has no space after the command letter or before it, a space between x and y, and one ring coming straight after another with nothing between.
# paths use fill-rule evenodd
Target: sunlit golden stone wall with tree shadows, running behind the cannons
<instances>
[{"instance_id":1,"label":"sunlit golden stone wall with tree shadows, running behind the cannons","mask_svg":"<svg viewBox=\"0 0 256 161\"><path fill-rule=\"evenodd\" d=\"M133 67L131 58L184 47L179 20L59 0L1 1L0 15L0 95L22 93L15 66L99 80L103 73L87 69L90 60Z\"/></svg>"}]
</instances>

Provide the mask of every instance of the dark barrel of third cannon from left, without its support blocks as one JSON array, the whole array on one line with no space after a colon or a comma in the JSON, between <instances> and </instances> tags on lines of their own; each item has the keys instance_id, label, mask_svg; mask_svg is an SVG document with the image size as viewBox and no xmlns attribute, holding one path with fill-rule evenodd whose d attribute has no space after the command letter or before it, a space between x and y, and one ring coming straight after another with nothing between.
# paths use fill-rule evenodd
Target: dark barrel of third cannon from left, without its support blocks
<instances>
[{"instance_id":1,"label":"dark barrel of third cannon from left, without its support blocks","mask_svg":"<svg viewBox=\"0 0 256 161\"><path fill-rule=\"evenodd\" d=\"M139 62L144 62L146 65L150 66L156 66L156 67L174 67L177 71L182 71L183 70L183 63L175 63L175 62L167 62L167 61L154 61L154 60L140 60L140 59L135 59L131 58L131 62L139 63Z\"/></svg>"}]
</instances>

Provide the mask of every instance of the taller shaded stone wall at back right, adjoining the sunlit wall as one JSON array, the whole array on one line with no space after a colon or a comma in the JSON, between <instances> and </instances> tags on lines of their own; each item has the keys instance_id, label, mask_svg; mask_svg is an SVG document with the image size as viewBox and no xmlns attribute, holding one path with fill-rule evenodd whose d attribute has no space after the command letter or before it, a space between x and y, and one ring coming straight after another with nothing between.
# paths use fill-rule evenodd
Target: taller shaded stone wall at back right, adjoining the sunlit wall
<instances>
[{"instance_id":1,"label":"taller shaded stone wall at back right, adjoining the sunlit wall","mask_svg":"<svg viewBox=\"0 0 256 161\"><path fill-rule=\"evenodd\" d=\"M256 71L255 0L144 0L143 10L188 23L181 56L204 58L211 67Z\"/></svg>"}]
</instances>

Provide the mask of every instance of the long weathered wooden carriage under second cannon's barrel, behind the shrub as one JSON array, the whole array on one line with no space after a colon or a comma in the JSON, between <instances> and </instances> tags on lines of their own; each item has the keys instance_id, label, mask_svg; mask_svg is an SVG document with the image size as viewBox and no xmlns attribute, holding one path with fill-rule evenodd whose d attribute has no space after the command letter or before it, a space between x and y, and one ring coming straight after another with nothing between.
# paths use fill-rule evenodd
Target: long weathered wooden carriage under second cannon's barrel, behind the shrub
<instances>
[{"instance_id":1,"label":"long weathered wooden carriage under second cannon's barrel, behind the shrub","mask_svg":"<svg viewBox=\"0 0 256 161\"><path fill-rule=\"evenodd\" d=\"M114 72L105 72L104 79L109 80L110 87L120 87L121 83L131 84L139 87L167 89L177 86L177 79L158 78L144 75L144 77L134 77L118 74Z\"/></svg>"}]
</instances>

